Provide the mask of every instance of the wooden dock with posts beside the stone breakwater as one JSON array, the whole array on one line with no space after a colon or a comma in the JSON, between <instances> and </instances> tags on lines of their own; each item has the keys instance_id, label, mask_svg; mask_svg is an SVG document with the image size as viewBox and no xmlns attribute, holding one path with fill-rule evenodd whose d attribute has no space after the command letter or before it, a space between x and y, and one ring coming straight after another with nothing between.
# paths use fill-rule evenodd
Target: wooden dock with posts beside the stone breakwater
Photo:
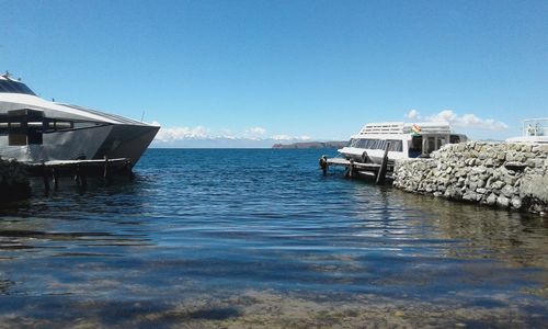
<instances>
[{"instance_id":1,"label":"wooden dock with posts beside the stone breakwater","mask_svg":"<svg viewBox=\"0 0 548 329\"><path fill-rule=\"evenodd\" d=\"M357 162L352 159L343 158L320 158L320 168L323 174L327 174L329 167L345 168L344 177L346 178L373 178L377 184L383 184L387 179L392 180L393 160L388 159L388 147L385 149L381 163L374 162Z\"/></svg>"}]
</instances>

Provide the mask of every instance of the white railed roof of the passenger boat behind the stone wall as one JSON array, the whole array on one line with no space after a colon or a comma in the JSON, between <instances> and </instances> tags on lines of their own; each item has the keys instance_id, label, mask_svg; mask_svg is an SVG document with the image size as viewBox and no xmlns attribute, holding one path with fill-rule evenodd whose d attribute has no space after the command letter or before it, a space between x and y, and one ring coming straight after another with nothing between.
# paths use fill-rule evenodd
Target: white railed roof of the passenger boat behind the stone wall
<instances>
[{"instance_id":1,"label":"white railed roof of the passenger boat behind the stone wall","mask_svg":"<svg viewBox=\"0 0 548 329\"><path fill-rule=\"evenodd\" d=\"M368 123L362 127L358 135L395 135L410 134L412 132L421 134L450 134L450 125L447 122L383 122Z\"/></svg>"}]
</instances>

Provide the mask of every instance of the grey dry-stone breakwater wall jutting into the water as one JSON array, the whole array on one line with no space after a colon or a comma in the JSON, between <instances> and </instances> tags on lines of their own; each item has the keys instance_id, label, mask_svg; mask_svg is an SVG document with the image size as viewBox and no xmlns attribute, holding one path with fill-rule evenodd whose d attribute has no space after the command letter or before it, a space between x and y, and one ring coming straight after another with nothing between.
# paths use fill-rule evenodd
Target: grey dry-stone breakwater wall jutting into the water
<instances>
[{"instance_id":1,"label":"grey dry-stone breakwater wall jutting into the water","mask_svg":"<svg viewBox=\"0 0 548 329\"><path fill-rule=\"evenodd\" d=\"M429 159L398 160L393 185L408 192L548 213L548 145L446 145Z\"/></svg>"}]
</instances>

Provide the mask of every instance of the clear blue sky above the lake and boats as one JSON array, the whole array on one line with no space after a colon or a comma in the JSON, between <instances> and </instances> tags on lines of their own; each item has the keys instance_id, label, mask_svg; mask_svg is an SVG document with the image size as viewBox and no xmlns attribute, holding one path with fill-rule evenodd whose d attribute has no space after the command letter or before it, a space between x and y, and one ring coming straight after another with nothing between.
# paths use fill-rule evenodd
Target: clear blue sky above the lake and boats
<instances>
[{"instance_id":1,"label":"clear blue sky above the lake and boats","mask_svg":"<svg viewBox=\"0 0 548 329\"><path fill-rule=\"evenodd\" d=\"M0 70L160 139L347 139L548 116L548 1L5 1ZM407 117L407 116L411 117ZM158 140L161 141L161 140Z\"/></svg>"}]
</instances>

